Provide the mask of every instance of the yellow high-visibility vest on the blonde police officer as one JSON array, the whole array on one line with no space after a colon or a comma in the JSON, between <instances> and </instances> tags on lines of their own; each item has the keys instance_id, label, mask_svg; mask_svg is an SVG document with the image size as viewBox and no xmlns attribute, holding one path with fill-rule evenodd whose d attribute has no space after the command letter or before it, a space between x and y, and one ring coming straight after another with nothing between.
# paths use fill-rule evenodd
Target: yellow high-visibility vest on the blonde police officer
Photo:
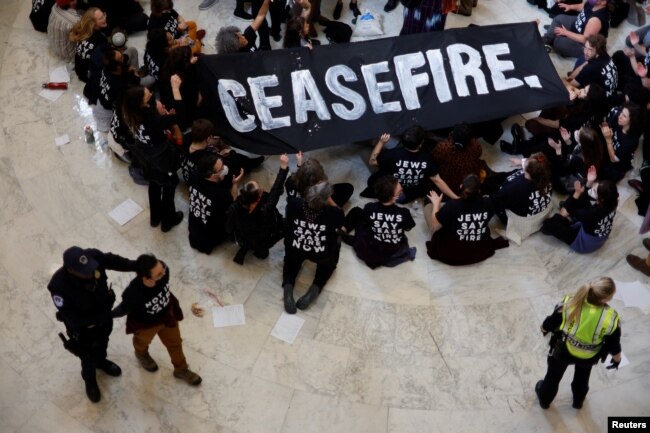
<instances>
[{"instance_id":1,"label":"yellow high-visibility vest on the blonde police officer","mask_svg":"<svg viewBox=\"0 0 650 433\"><path fill-rule=\"evenodd\" d=\"M560 325L566 335L567 350L576 358L593 358L600 352L605 336L611 335L618 328L618 313L608 305L591 305L585 299L580 315L568 323L566 319L570 313L567 311L569 299L569 296L564 297Z\"/></svg>"}]
</instances>

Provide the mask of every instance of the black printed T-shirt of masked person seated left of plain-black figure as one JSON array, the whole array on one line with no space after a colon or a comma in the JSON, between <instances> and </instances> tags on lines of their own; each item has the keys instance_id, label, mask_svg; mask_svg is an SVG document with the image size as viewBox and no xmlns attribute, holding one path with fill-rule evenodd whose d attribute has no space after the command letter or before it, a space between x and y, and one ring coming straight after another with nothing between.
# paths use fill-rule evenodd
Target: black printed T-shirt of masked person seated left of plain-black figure
<instances>
[{"instance_id":1,"label":"black printed T-shirt of masked person seated left of plain-black figure","mask_svg":"<svg viewBox=\"0 0 650 433\"><path fill-rule=\"evenodd\" d=\"M230 190L223 182L212 182L198 173L190 176L190 237L204 239L212 246L226 233L226 212L232 204Z\"/></svg>"}]
</instances>

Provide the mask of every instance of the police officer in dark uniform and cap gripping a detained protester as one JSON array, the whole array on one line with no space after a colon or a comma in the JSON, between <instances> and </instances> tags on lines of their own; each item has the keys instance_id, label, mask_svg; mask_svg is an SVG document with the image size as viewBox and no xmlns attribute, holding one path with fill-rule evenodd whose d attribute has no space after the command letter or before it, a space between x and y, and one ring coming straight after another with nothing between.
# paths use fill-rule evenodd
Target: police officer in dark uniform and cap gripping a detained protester
<instances>
[{"instance_id":1,"label":"police officer in dark uniform and cap gripping a detained protester","mask_svg":"<svg viewBox=\"0 0 650 433\"><path fill-rule=\"evenodd\" d=\"M122 374L120 367L106 358L115 302L107 269L134 271L135 261L96 249L70 247L63 253L63 266L47 286L58 309L56 317L65 324L69 339L63 334L59 336L65 348L81 359L81 377L86 382L86 395L93 403L101 398L95 369L114 377Z\"/></svg>"}]
</instances>

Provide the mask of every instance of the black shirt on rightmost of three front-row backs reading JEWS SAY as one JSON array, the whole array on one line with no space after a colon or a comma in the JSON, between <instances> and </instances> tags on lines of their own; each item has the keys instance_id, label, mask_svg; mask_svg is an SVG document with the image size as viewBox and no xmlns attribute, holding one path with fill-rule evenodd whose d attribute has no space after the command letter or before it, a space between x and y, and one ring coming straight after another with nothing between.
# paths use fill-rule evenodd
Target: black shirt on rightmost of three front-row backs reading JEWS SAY
<instances>
[{"instance_id":1,"label":"black shirt on rightmost of three front-row backs reading JEWS SAY","mask_svg":"<svg viewBox=\"0 0 650 433\"><path fill-rule=\"evenodd\" d=\"M488 197L476 200L450 200L436 214L440 230L453 233L463 243L480 242L490 237L488 222L494 208Z\"/></svg>"}]
</instances>

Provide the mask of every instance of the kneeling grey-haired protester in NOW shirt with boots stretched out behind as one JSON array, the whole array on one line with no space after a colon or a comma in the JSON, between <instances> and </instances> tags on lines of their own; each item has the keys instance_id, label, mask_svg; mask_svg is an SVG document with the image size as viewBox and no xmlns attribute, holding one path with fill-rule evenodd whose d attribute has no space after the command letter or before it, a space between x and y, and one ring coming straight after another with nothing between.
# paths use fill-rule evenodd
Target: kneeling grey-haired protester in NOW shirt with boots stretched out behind
<instances>
[{"instance_id":1,"label":"kneeling grey-haired protester in NOW shirt with boots stretched out behind","mask_svg":"<svg viewBox=\"0 0 650 433\"><path fill-rule=\"evenodd\" d=\"M288 197L282 289L284 309L295 314L316 300L339 262L340 243L337 231L344 223L343 211L332 204L332 187L318 182L300 197ZM314 280L298 301L293 298L294 284L305 260L316 263Z\"/></svg>"}]
</instances>

